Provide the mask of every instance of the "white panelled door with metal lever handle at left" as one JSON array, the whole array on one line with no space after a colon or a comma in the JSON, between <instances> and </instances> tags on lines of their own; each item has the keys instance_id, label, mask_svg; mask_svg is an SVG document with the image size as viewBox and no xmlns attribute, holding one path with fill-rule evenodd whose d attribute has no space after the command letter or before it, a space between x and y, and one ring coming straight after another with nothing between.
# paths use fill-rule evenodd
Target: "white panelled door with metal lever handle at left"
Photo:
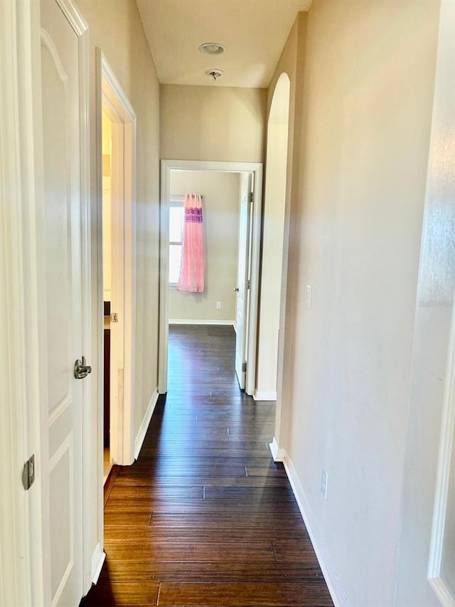
<instances>
[{"instance_id":1,"label":"white panelled door with metal lever handle at left","mask_svg":"<svg viewBox=\"0 0 455 607\"><path fill-rule=\"evenodd\" d=\"M52 606L82 597L82 196L79 38L55 0L41 0L45 317ZM85 226L87 229L87 226ZM88 369L87 369L88 371ZM81 372L84 375L83 372ZM47 555L46 555L47 556Z\"/></svg>"}]
</instances>

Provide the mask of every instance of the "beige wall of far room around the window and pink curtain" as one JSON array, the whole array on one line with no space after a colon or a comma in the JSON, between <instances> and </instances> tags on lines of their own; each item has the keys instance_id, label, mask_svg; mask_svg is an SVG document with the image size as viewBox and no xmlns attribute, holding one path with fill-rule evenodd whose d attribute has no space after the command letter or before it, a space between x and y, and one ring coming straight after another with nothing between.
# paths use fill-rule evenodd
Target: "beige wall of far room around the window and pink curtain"
<instances>
[{"instance_id":1,"label":"beige wall of far room around the window and pink curtain","mask_svg":"<svg viewBox=\"0 0 455 607\"><path fill-rule=\"evenodd\" d=\"M171 199L203 194L205 290L185 293L170 288L170 320L235 320L239 181L239 173L171 171ZM216 310L216 302L221 302L221 310Z\"/></svg>"}]
</instances>

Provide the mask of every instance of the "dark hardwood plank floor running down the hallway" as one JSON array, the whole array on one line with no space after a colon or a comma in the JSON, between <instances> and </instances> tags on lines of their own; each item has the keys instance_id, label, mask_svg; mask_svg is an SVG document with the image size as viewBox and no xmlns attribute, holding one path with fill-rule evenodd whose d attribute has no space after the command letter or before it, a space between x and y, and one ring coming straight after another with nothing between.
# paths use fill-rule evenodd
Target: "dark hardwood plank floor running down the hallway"
<instances>
[{"instance_id":1,"label":"dark hardwood plank floor running down the hallway","mask_svg":"<svg viewBox=\"0 0 455 607\"><path fill-rule=\"evenodd\" d=\"M274 403L240 392L234 349L232 327L170 327L168 394L107 485L107 559L81 606L333 605L270 455Z\"/></svg>"}]
</instances>

